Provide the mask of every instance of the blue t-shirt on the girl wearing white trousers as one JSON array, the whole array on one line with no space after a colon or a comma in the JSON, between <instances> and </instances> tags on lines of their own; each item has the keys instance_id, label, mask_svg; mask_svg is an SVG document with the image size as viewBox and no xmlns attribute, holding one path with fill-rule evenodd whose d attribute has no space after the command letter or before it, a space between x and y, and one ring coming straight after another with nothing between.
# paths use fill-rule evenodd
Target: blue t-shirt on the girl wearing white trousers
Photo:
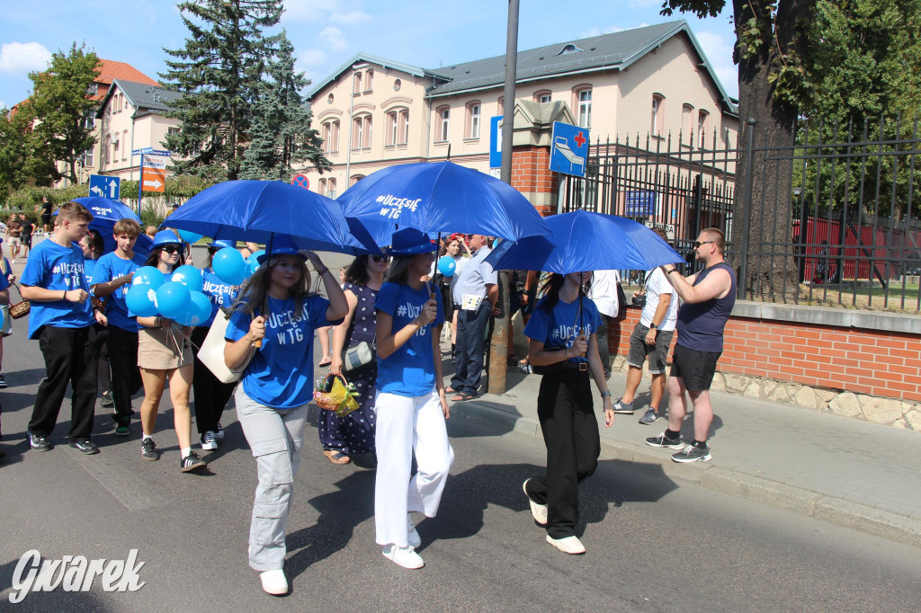
<instances>
[{"instance_id":1,"label":"blue t-shirt on the girl wearing white trousers","mask_svg":"<svg viewBox=\"0 0 921 613\"><path fill-rule=\"evenodd\" d=\"M380 286L374 307L393 318L391 334L395 334L419 316L428 298L426 285L414 290L409 285L384 283ZM375 385L379 391L415 398L428 394L435 387L432 334L435 328L445 321L440 292L436 292L435 299L438 304L435 321L416 330L409 341L404 342L390 356L378 361L378 378Z\"/></svg>"}]
</instances>

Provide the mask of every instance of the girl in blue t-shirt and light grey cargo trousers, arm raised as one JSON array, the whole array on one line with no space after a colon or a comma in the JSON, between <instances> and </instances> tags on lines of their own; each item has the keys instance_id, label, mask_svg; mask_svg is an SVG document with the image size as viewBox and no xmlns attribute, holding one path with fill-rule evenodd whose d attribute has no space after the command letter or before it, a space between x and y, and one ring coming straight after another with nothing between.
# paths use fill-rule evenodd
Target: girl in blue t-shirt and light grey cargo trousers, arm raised
<instances>
[{"instance_id":1,"label":"girl in blue t-shirt and light grey cargo trousers, arm raised","mask_svg":"<svg viewBox=\"0 0 921 613\"><path fill-rule=\"evenodd\" d=\"M250 359L237 387L237 416L259 466L252 505L250 566L262 589L286 594L285 532L291 490L304 441L307 404L313 398L313 333L337 324L348 302L336 277L315 253L306 252L329 300L308 294L305 256L288 237L274 237L259 269L240 289L227 322L224 361L238 370Z\"/></svg>"}]
</instances>

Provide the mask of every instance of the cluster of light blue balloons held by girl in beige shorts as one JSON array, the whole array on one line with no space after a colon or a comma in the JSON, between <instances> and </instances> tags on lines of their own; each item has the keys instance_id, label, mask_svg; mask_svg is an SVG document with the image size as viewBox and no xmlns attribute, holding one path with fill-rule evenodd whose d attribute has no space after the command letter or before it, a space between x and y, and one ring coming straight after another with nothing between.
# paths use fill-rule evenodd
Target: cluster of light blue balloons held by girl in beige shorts
<instances>
[{"instance_id":1,"label":"cluster of light blue balloons held by girl in beige shorts","mask_svg":"<svg viewBox=\"0 0 921 613\"><path fill-rule=\"evenodd\" d=\"M202 272L194 266L180 266L169 281L159 269L144 266L134 272L125 303L137 317L158 315L183 326L198 326L211 317L211 301L202 293L203 287Z\"/></svg>"}]
</instances>

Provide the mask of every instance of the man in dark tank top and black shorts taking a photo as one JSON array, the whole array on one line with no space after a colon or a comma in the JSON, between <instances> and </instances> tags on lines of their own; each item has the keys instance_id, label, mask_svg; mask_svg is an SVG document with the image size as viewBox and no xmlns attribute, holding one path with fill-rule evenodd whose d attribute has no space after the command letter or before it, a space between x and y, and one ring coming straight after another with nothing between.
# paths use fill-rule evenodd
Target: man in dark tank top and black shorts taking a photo
<instances>
[{"instance_id":1,"label":"man in dark tank top and black shorts taking a photo","mask_svg":"<svg viewBox=\"0 0 921 613\"><path fill-rule=\"evenodd\" d=\"M646 444L679 450L676 462L709 461L706 439L713 422L710 384L723 353L723 330L736 300L736 275L723 257L726 239L718 228L701 231L694 243L694 255L704 270L682 277L674 266L663 266L666 278L683 301L678 309L678 341L671 354L669 428ZM685 390L694 404L694 440L685 445L680 434L687 413Z\"/></svg>"}]
</instances>

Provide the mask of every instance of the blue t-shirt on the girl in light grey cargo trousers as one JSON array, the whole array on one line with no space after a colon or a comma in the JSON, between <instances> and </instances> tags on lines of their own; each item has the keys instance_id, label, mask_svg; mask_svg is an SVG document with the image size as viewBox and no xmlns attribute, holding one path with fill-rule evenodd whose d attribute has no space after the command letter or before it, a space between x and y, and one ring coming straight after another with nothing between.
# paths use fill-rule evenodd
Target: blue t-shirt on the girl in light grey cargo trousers
<instances>
[{"instance_id":1,"label":"blue t-shirt on the girl in light grey cargo trousers","mask_svg":"<svg viewBox=\"0 0 921 613\"><path fill-rule=\"evenodd\" d=\"M243 391L251 399L275 409L294 409L313 398L313 330L342 322L326 320L330 301L319 295L294 300L268 298L265 338L243 373ZM252 317L234 311L224 338L239 341L250 331Z\"/></svg>"}]
</instances>

